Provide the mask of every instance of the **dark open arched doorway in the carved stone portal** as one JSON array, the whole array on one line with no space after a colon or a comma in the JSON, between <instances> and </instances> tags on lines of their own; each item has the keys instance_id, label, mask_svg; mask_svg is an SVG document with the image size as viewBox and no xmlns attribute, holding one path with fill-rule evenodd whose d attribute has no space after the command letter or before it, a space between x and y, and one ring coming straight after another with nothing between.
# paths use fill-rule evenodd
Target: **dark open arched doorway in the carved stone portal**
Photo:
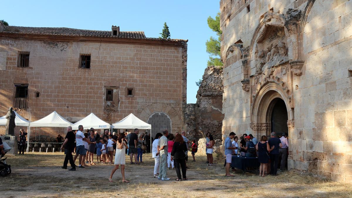
<instances>
[{"instance_id":1,"label":"dark open arched doorway in the carved stone portal","mask_svg":"<svg viewBox=\"0 0 352 198\"><path fill-rule=\"evenodd\" d=\"M268 108L267 119L267 122L270 123L269 132L276 132L277 136L281 135L283 132L288 134L287 109L285 101L281 98L275 98L271 101Z\"/></svg>"}]
</instances>

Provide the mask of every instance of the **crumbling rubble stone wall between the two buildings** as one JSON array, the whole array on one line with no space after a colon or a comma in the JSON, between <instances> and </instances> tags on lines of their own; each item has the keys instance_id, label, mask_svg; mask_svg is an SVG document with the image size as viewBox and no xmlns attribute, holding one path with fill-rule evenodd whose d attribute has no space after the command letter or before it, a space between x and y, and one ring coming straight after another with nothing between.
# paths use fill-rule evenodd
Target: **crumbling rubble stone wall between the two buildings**
<instances>
[{"instance_id":1,"label":"crumbling rubble stone wall between the two buildings","mask_svg":"<svg viewBox=\"0 0 352 198\"><path fill-rule=\"evenodd\" d=\"M186 129L189 138L198 140L210 132L214 139L221 140L222 114L222 70L209 66L205 69L197 91L197 103L187 104Z\"/></svg>"}]
</instances>

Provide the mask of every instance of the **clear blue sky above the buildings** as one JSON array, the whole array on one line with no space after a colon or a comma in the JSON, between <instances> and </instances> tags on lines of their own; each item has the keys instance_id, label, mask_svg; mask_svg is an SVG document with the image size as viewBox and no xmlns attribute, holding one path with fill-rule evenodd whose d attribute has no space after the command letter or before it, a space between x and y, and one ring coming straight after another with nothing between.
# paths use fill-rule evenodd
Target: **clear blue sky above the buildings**
<instances>
[{"instance_id":1,"label":"clear blue sky above the buildings","mask_svg":"<svg viewBox=\"0 0 352 198\"><path fill-rule=\"evenodd\" d=\"M0 20L9 25L30 27L70 27L87 30L144 31L159 37L163 24L171 38L188 39L187 103L196 102L198 87L209 55L205 42L215 32L207 18L219 12L219 0L134 0L134 1L1 1Z\"/></svg>"}]
</instances>

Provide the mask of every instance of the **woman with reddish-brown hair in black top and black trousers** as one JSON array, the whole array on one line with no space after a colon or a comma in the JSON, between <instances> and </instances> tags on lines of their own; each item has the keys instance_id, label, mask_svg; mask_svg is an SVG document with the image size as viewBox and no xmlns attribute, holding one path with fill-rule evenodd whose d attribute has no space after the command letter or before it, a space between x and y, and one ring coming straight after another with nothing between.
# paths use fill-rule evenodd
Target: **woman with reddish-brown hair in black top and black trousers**
<instances>
[{"instance_id":1,"label":"woman with reddish-brown hair in black top and black trousers","mask_svg":"<svg viewBox=\"0 0 352 198\"><path fill-rule=\"evenodd\" d=\"M171 160L174 161L177 179L176 181L182 181L180 165L182 169L183 180L188 180L186 177L186 154L187 151L186 142L183 141L183 137L180 134L177 134L175 137L175 143L173 144L171 150Z\"/></svg>"}]
</instances>

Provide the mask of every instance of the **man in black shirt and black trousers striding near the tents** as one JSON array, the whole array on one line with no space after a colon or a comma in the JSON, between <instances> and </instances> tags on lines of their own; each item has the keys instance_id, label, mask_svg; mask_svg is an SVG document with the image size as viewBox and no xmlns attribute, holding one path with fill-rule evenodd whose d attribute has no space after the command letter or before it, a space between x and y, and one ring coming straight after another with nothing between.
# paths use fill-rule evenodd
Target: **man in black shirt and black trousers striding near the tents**
<instances>
[{"instance_id":1,"label":"man in black shirt and black trousers striding near the tents","mask_svg":"<svg viewBox=\"0 0 352 198\"><path fill-rule=\"evenodd\" d=\"M73 161L72 151L75 148L75 134L72 131L72 127L67 127L67 134L65 137L65 141L61 146L61 150L65 149L65 160L64 164L61 168L67 169L67 163L70 162L71 168L69 171L76 171L76 165Z\"/></svg>"}]
</instances>

